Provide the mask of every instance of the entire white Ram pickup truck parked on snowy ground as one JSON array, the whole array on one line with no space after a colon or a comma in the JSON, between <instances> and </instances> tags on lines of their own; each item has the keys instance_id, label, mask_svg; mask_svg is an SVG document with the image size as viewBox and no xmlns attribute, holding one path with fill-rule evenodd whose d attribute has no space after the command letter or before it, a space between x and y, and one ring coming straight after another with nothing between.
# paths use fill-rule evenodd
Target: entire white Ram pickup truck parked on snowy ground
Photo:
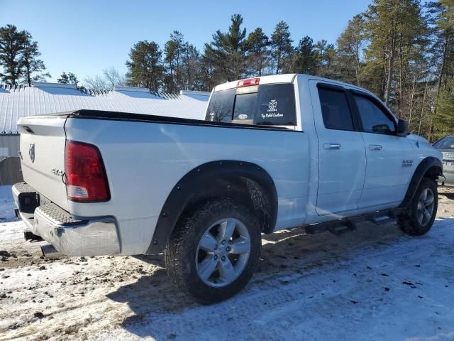
<instances>
[{"instance_id":1,"label":"entire white Ram pickup truck parked on snowy ground","mask_svg":"<svg viewBox=\"0 0 454 341\"><path fill-rule=\"evenodd\" d=\"M20 119L13 186L45 256L165 255L213 303L240 291L260 235L397 219L425 234L442 155L374 94L309 75L218 85L206 120L80 110Z\"/></svg>"}]
</instances>

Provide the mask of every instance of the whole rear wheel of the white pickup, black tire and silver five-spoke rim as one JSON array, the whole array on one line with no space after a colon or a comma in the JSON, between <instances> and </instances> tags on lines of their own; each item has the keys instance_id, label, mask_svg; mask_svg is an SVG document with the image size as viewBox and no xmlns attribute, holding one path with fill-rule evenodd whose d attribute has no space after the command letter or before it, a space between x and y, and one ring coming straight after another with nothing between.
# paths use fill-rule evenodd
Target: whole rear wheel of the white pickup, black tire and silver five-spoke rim
<instances>
[{"instance_id":1,"label":"whole rear wheel of the white pickup, black tire and silver five-spoke rim","mask_svg":"<svg viewBox=\"0 0 454 341\"><path fill-rule=\"evenodd\" d=\"M260 247L260 226L250 210L231 200L216 200L175 227L165 249L165 266L178 288L201 303L216 303L248 283Z\"/></svg>"}]
</instances>

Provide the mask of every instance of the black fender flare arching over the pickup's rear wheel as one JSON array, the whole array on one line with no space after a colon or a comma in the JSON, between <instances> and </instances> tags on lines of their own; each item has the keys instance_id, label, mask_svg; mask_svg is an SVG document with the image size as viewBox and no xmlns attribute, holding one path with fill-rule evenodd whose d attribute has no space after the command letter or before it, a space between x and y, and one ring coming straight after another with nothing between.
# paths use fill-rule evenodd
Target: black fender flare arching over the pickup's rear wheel
<instances>
[{"instance_id":1,"label":"black fender flare arching over the pickup's rear wheel","mask_svg":"<svg viewBox=\"0 0 454 341\"><path fill-rule=\"evenodd\" d=\"M267 200L270 202L270 210L266 210L267 219L265 220L262 232L271 233L277 220L277 191L270 174L254 163L243 161L212 161L189 171L172 188L160 212L147 254L158 254L165 249L165 245L182 213L184 213L184 210L191 202L196 200L197 196L203 198L204 190L206 190L207 197L209 195L211 197L218 196L216 188L211 186L215 180L240 178L253 180L267 194ZM223 194L220 193L219 195Z\"/></svg>"}]
</instances>

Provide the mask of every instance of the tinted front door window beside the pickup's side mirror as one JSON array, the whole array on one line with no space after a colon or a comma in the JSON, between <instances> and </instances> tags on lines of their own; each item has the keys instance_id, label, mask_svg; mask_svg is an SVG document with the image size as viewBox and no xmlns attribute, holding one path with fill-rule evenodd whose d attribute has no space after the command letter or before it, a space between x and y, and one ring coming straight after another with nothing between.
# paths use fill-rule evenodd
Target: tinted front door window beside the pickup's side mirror
<instances>
[{"instance_id":1,"label":"tinted front door window beside the pickup's side mirror","mask_svg":"<svg viewBox=\"0 0 454 341\"><path fill-rule=\"evenodd\" d=\"M372 100L355 94L355 101L364 131L377 134L393 134L396 131L394 121Z\"/></svg>"}]
</instances>

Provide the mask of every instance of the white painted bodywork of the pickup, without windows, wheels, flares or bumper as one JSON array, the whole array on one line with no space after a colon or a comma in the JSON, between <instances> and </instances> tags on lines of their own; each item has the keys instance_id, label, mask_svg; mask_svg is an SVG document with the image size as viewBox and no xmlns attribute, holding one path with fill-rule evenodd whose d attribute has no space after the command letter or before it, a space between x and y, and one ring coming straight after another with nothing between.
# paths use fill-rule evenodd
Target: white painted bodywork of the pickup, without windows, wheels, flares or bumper
<instances>
[{"instance_id":1,"label":"white painted bodywork of the pickup, without windows, wheels, flares or bumper","mask_svg":"<svg viewBox=\"0 0 454 341\"><path fill-rule=\"evenodd\" d=\"M317 82L360 90L307 75L260 78L260 85L294 84L294 130L77 117L21 119L24 180L75 217L114 217L121 254L147 251L172 188L189 171L211 161L250 162L271 176L277 191L275 230L396 207L419 162L427 156L441 160L441 153L420 137L326 129ZM225 83L214 92L233 87L236 82ZM35 134L29 134L26 126ZM109 180L109 201L67 200L65 184L50 172L65 169L67 140L99 148ZM34 163L25 155L31 143L36 146ZM341 148L330 148L332 144ZM372 145L382 150L372 151ZM413 160L411 167L402 167L404 159Z\"/></svg>"}]
</instances>

